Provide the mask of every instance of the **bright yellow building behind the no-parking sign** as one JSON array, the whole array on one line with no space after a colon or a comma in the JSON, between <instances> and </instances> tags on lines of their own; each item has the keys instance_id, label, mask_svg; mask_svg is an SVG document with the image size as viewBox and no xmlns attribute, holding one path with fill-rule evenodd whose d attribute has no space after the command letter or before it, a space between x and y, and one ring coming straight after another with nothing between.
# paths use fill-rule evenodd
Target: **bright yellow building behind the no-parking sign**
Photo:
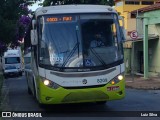
<instances>
[{"instance_id":1,"label":"bright yellow building behind the no-parking sign","mask_svg":"<svg viewBox=\"0 0 160 120\"><path fill-rule=\"evenodd\" d=\"M131 31L136 29L136 16L131 12L155 3L156 0L115 0L115 9L125 20L127 38L130 37Z\"/></svg>"}]
</instances>

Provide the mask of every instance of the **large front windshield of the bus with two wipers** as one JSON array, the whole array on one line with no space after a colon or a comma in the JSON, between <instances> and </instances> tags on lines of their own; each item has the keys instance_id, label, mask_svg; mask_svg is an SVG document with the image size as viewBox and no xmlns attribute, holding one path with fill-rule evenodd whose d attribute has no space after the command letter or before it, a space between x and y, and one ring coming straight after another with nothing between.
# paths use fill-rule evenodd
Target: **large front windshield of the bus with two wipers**
<instances>
[{"instance_id":1,"label":"large front windshield of the bus with two wipers","mask_svg":"<svg viewBox=\"0 0 160 120\"><path fill-rule=\"evenodd\" d=\"M123 59L115 14L41 16L38 33L40 65L98 70Z\"/></svg>"}]
</instances>

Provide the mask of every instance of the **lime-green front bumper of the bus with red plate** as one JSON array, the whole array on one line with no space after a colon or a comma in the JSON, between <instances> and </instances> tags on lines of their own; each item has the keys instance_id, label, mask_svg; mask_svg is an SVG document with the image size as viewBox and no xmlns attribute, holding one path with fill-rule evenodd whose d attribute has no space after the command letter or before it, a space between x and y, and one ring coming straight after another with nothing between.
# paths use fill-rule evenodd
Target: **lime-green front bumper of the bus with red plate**
<instances>
[{"instance_id":1,"label":"lime-green front bumper of the bus with red plate","mask_svg":"<svg viewBox=\"0 0 160 120\"><path fill-rule=\"evenodd\" d=\"M116 88L116 89L110 89ZM63 88L52 89L39 81L37 89L38 101L42 104L83 103L118 100L125 97L125 81L115 85L106 84L94 88Z\"/></svg>"}]
</instances>

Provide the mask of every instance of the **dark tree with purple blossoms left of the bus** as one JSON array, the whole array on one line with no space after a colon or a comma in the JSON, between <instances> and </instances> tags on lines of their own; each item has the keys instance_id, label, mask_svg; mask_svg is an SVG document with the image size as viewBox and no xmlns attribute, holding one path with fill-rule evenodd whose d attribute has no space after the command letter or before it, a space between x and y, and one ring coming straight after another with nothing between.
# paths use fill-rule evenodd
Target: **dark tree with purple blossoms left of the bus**
<instances>
[{"instance_id":1,"label":"dark tree with purple blossoms left of the bus","mask_svg":"<svg viewBox=\"0 0 160 120\"><path fill-rule=\"evenodd\" d=\"M0 55L10 44L17 46L18 40L25 35L30 19L27 18L26 0L0 0ZM22 16L23 15L23 16Z\"/></svg>"}]
</instances>

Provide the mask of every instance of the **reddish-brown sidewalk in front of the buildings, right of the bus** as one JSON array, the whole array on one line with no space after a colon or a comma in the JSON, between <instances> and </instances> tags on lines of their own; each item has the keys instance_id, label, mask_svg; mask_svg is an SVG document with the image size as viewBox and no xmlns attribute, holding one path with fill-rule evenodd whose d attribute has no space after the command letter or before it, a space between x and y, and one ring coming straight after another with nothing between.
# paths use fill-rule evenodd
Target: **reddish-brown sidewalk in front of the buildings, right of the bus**
<instances>
[{"instance_id":1,"label":"reddish-brown sidewalk in front of the buildings, right of the bus","mask_svg":"<svg viewBox=\"0 0 160 120\"><path fill-rule=\"evenodd\" d=\"M160 78L152 77L144 79L143 76L126 75L126 88L144 89L144 90L160 90Z\"/></svg>"}]
</instances>

